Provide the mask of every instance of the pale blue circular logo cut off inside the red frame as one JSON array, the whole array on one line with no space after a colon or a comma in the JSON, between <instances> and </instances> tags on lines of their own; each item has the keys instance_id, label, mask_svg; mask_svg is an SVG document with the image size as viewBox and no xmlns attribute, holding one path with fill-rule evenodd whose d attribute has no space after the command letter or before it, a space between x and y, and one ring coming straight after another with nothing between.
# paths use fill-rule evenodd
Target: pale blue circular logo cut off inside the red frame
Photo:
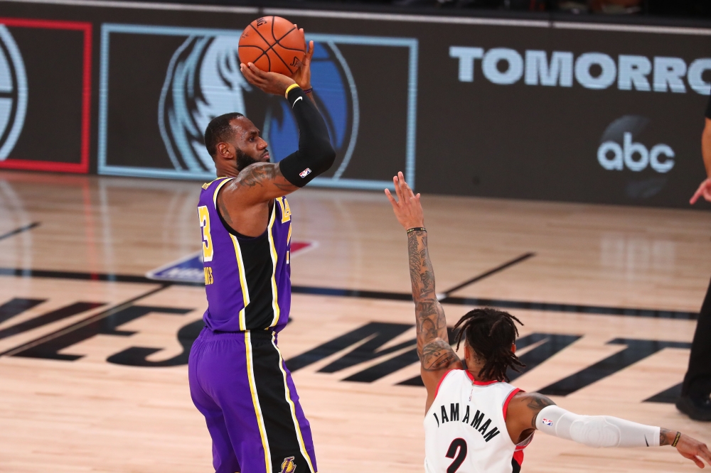
<instances>
[{"instance_id":1,"label":"pale blue circular logo cut off inside the red frame","mask_svg":"<svg viewBox=\"0 0 711 473\"><path fill-rule=\"evenodd\" d=\"M0 161L20 137L27 112L25 64L14 38L0 25Z\"/></svg>"}]
</instances>

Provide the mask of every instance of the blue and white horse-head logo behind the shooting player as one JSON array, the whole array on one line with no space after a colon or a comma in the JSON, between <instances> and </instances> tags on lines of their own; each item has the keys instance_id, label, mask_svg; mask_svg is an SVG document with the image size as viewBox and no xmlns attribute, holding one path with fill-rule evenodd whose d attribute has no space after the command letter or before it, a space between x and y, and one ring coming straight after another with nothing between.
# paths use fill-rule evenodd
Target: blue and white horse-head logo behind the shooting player
<instances>
[{"instance_id":1,"label":"blue and white horse-head logo behind the shooting player","mask_svg":"<svg viewBox=\"0 0 711 473\"><path fill-rule=\"evenodd\" d=\"M211 119L228 112L262 116L262 135L274 161L299 146L299 131L284 99L249 100L263 94L240 72L239 36L190 36L173 54L159 102L159 127L176 170L214 172L203 146L203 132ZM314 98L324 114L338 156L334 178L348 167L358 136L358 92L348 63L336 43L319 41L311 63ZM247 109L247 102L264 103L264 110ZM254 107L254 106L253 106ZM261 113L257 113L261 112Z\"/></svg>"}]
</instances>

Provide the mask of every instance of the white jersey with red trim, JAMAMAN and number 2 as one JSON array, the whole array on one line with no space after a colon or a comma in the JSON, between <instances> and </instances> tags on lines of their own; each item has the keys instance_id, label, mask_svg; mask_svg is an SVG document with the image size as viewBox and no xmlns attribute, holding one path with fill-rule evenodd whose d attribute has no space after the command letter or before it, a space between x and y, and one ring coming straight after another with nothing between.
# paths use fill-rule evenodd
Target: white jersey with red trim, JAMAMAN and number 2
<instances>
[{"instance_id":1,"label":"white jersey with red trim, JAMAMAN and number 2","mask_svg":"<svg viewBox=\"0 0 711 473\"><path fill-rule=\"evenodd\" d=\"M426 473L518 473L523 449L506 430L508 403L520 389L479 382L464 369L447 371L424 416Z\"/></svg>"}]
</instances>

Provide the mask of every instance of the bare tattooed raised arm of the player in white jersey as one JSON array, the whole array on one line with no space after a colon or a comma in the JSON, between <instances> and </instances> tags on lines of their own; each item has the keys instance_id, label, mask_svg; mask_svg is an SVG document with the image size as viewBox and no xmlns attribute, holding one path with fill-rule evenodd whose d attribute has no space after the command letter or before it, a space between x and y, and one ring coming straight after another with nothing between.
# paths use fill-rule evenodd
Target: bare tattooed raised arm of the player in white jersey
<instances>
[{"instance_id":1,"label":"bare tattooed raised arm of the player in white jersey","mask_svg":"<svg viewBox=\"0 0 711 473\"><path fill-rule=\"evenodd\" d=\"M395 217L407 230L407 254L410 261L412 298L415 300L417 326L417 355L421 364L422 381L427 388L427 407L434 401L437 384L449 369L461 369L459 357L449 344L444 309L434 290L434 270L427 251L427 231L419 194L415 195L402 173L392 178L397 200L389 190L385 195L392 204Z\"/></svg>"}]
</instances>

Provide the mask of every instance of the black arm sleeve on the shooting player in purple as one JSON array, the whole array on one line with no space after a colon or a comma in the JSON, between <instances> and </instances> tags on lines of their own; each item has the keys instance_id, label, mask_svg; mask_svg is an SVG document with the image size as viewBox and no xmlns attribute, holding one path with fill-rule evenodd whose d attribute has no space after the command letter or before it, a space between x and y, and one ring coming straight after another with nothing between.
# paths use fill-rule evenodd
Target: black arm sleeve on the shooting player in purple
<instances>
[{"instance_id":1,"label":"black arm sleeve on the shooting player in purple","mask_svg":"<svg viewBox=\"0 0 711 473\"><path fill-rule=\"evenodd\" d=\"M304 187L333 165L336 151L328 138L324 117L304 91L294 87L287 99L299 126L299 149L279 161L279 170L290 183Z\"/></svg>"}]
</instances>

